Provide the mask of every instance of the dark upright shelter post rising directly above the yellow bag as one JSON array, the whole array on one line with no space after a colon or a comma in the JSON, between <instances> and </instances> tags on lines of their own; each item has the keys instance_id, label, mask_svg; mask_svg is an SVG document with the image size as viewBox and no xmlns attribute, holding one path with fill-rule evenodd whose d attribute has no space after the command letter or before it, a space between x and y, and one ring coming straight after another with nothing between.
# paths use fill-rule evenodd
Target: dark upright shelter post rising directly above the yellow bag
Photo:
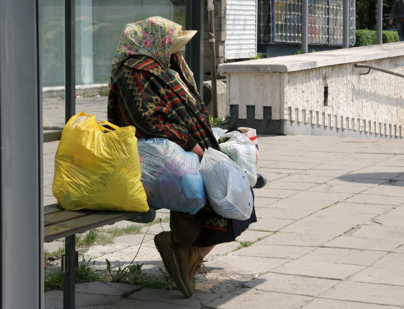
<instances>
[{"instance_id":1,"label":"dark upright shelter post rising directly above the yellow bag","mask_svg":"<svg viewBox=\"0 0 404 309\"><path fill-rule=\"evenodd\" d=\"M65 122L76 113L75 0L65 0Z\"/></svg>"}]
</instances>

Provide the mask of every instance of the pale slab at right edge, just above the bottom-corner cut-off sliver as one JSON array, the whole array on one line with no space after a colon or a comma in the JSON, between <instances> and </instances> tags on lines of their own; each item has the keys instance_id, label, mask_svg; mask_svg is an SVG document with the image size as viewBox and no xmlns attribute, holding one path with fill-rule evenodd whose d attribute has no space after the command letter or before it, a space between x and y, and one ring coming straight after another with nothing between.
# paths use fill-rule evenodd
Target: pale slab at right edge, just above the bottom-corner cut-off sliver
<instances>
[{"instance_id":1,"label":"pale slab at right edge, just above the bottom-corner cut-off sliver","mask_svg":"<svg viewBox=\"0 0 404 309\"><path fill-rule=\"evenodd\" d=\"M344 281L320 297L402 306L404 286Z\"/></svg>"}]
</instances>

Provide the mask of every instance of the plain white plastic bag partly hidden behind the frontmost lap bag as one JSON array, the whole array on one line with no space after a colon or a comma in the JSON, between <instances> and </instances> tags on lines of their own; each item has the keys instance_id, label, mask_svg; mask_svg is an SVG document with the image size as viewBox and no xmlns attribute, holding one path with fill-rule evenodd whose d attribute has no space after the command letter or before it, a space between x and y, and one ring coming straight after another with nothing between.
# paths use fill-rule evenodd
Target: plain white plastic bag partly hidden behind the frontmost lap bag
<instances>
[{"instance_id":1,"label":"plain white plastic bag partly hidden behind the frontmost lap bag","mask_svg":"<svg viewBox=\"0 0 404 309\"><path fill-rule=\"evenodd\" d=\"M254 143L238 131L222 134L220 138L229 139L219 145L220 149L244 169L250 186L254 187L257 183L257 148Z\"/></svg>"}]
</instances>

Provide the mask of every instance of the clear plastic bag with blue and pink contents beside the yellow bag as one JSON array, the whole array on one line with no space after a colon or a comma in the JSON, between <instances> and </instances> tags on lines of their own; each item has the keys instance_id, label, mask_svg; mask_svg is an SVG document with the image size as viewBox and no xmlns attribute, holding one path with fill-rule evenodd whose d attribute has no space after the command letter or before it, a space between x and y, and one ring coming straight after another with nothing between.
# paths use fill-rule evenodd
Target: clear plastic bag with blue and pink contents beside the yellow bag
<instances>
[{"instance_id":1,"label":"clear plastic bag with blue and pink contents beside the yellow bag","mask_svg":"<svg viewBox=\"0 0 404 309\"><path fill-rule=\"evenodd\" d=\"M196 213L206 204L199 158L167 139L138 139L144 190L150 206Z\"/></svg>"}]
</instances>

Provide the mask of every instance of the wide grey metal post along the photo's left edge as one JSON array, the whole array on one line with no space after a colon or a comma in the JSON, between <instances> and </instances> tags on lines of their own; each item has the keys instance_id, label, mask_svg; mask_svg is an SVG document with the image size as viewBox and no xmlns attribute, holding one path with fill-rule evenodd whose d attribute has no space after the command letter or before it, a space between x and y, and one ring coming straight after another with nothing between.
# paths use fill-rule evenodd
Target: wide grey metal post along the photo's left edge
<instances>
[{"instance_id":1,"label":"wide grey metal post along the photo's left edge","mask_svg":"<svg viewBox=\"0 0 404 309\"><path fill-rule=\"evenodd\" d=\"M43 308L43 1L0 1L0 307Z\"/></svg>"}]
</instances>

